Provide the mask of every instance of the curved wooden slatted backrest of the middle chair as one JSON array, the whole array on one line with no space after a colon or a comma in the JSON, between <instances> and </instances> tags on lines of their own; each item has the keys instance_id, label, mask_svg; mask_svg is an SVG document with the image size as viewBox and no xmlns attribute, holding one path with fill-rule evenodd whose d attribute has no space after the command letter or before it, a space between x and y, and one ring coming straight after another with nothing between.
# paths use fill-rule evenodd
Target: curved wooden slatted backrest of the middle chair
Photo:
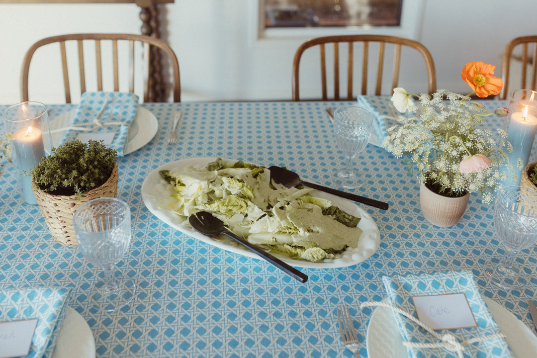
<instances>
[{"instance_id":1,"label":"curved wooden slatted backrest of the middle chair","mask_svg":"<svg viewBox=\"0 0 537 358\"><path fill-rule=\"evenodd\" d=\"M347 96L342 98L340 96L340 85L343 85L343 82L340 82L340 65L345 59L340 56L339 52L339 43L347 42L349 44L348 54L347 54ZM397 86L399 75L400 75L400 65L401 65L401 55L403 46L417 50L417 52L422 55L425 68L427 71L427 91L429 93L436 92L436 71L434 69L434 62L432 59L429 50L425 48L421 43L413 41L410 39L398 38L395 36L384 36L384 35L339 35L339 36L323 36L320 38L311 39L302 43L295 52L293 59L293 75L292 75L292 87L293 87L293 100L300 100L300 60L302 54L305 50L310 47L320 46L321 48L321 83L322 83L322 100L328 100L328 93L326 90L326 59L325 59L325 45L331 44L334 47L333 50L333 99L335 100L352 100L353 98L353 82L354 82L354 62L359 61L360 59L357 56L354 56L353 46L354 42L360 42L362 44L362 70L361 70L361 94L367 94L368 88L368 73L369 73L369 48L371 43L378 45L378 57L371 62L375 61L376 63L376 82L374 85L374 94L381 95L382 93L382 77L384 73L384 62L385 55L387 53L387 45L393 45L394 47L394 57L393 57L393 67L392 67L392 78L391 84L393 87L389 89L389 94L391 94L394 87ZM406 52L405 52L406 54ZM389 67L386 66L386 69ZM358 74L357 74L358 75ZM344 76L344 75L343 75ZM358 82L358 79L357 79ZM386 93L388 94L388 93Z\"/></svg>"}]
</instances>

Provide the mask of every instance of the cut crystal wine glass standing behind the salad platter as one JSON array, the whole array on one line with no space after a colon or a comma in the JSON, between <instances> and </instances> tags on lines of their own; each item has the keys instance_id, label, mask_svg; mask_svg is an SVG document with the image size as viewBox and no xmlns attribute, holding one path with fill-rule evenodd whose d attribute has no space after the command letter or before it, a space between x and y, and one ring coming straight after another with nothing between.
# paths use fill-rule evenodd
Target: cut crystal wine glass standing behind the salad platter
<instances>
[{"instance_id":1,"label":"cut crystal wine glass standing behind the salad platter","mask_svg":"<svg viewBox=\"0 0 537 358\"><path fill-rule=\"evenodd\" d=\"M353 167L353 159L369 142L373 129L373 114L364 108L347 106L336 108L333 115L336 143L345 155L343 168L336 173L336 185L344 189L362 186L362 174Z\"/></svg>"}]
</instances>

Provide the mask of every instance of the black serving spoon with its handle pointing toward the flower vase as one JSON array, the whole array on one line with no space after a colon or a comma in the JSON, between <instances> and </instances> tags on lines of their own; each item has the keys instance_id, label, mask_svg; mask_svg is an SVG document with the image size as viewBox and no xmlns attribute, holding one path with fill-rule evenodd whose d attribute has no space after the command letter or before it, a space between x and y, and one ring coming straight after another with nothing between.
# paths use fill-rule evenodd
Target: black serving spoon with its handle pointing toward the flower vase
<instances>
[{"instance_id":1,"label":"black serving spoon with its handle pointing toward the flower vase","mask_svg":"<svg viewBox=\"0 0 537 358\"><path fill-rule=\"evenodd\" d=\"M342 198L345 198L345 199L357 201L359 203L366 204L366 205L379 208L382 210L388 210L388 203L378 201L375 199L365 198L364 196L360 196L360 195L342 192L337 189L332 189L326 186L314 184L313 182L303 181L302 179L300 179L299 174L296 174L295 172L282 168L281 166L271 166L269 167L269 170L270 170L271 182L274 180L276 184L281 184L287 188L292 188L297 185L309 186L310 188L314 188L322 192L330 193L333 195L341 196Z\"/></svg>"}]
</instances>

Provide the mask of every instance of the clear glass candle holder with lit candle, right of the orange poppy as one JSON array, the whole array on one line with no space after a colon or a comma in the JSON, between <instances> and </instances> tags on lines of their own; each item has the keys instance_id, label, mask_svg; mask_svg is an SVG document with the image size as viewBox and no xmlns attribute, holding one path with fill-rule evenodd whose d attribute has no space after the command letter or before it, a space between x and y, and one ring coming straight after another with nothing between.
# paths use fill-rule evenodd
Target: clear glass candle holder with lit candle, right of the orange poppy
<instances>
[{"instance_id":1,"label":"clear glass candle holder with lit candle, right of the orange poppy","mask_svg":"<svg viewBox=\"0 0 537 358\"><path fill-rule=\"evenodd\" d=\"M532 90L516 90L509 93L509 115L505 116L503 129L507 133L507 141L513 146L513 151L507 151L509 162L514 166L517 180L507 180L506 185L520 185L524 167L528 165L529 154L532 150L535 131L537 131L537 92ZM518 159L523 162L518 169Z\"/></svg>"}]
</instances>

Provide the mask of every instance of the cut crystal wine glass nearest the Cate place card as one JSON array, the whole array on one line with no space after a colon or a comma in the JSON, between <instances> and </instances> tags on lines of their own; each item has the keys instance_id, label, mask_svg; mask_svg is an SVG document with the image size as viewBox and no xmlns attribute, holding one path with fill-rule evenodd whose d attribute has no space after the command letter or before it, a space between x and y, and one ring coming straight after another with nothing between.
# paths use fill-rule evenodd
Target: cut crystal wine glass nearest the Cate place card
<instances>
[{"instance_id":1,"label":"cut crystal wine glass nearest the Cate place card","mask_svg":"<svg viewBox=\"0 0 537 358\"><path fill-rule=\"evenodd\" d=\"M515 258L520 250L537 242L537 192L521 186L500 189L494 205L494 227L507 253L487 261L484 274L499 287L524 288L528 278Z\"/></svg>"}]
</instances>

